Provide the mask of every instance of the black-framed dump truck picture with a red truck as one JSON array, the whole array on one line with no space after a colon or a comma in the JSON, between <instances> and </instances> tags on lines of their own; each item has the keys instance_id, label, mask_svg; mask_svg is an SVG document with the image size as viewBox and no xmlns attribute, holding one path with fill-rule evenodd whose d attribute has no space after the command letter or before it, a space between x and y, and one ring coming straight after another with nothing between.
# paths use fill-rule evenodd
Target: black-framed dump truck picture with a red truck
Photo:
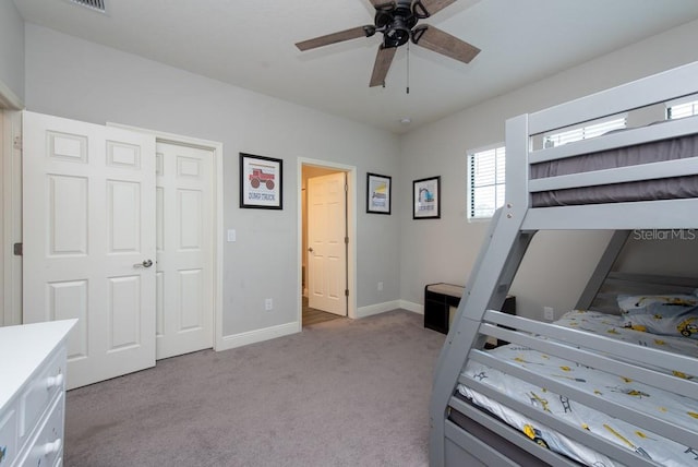
<instances>
[{"instance_id":1,"label":"black-framed dump truck picture with a red truck","mask_svg":"<svg viewBox=\"0 0 698 467\"><path fill-rule=\"evenodd\" d=\"M240 207L284 208L284 161L240 153Z\"/></svg>"}]
</instances>

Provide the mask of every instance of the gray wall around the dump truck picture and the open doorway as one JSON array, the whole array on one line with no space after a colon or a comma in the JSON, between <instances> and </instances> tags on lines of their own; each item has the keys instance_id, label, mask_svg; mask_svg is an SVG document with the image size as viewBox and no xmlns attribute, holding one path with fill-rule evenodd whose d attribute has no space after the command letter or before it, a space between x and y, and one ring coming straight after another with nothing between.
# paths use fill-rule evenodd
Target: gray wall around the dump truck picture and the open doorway
<instances>
[{"instance_id":1,"label":"gray wall around the dump truck picture and the open doorway","mask_svg":"<svg viewBox=\"0 0 698 467\"><path fill-rule=\"evenodd\" d=\"M396 175L397 136L115 49L26 25L26 106L224 144L224 334L297 321L298 159L357 167L358 307L399 299L397 216L366 215L365 172ZM284 209L240 209L238 153L284 160ZM364 277L381 277L377 292ZM264 311L264 299L274 311Z\"/></svg>"}]
</instances>

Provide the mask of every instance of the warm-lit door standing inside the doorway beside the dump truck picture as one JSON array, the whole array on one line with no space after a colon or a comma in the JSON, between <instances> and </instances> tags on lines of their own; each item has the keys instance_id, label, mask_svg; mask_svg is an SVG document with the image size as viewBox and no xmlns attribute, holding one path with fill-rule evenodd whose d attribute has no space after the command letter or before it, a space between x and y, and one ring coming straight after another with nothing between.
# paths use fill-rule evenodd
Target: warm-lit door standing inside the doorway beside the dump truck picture
<instances>
[{"instance_id":1,"label":"warm-lit door standing inside the doorway beside the dump truck picture","mask_svg":"<svg viewBox=\"0 0 698 467\"><path fill-rule=\"evenodd\" d=\"M347 315L346 173L308 179L308 304Z\"/></svg>"}]
</instances>

